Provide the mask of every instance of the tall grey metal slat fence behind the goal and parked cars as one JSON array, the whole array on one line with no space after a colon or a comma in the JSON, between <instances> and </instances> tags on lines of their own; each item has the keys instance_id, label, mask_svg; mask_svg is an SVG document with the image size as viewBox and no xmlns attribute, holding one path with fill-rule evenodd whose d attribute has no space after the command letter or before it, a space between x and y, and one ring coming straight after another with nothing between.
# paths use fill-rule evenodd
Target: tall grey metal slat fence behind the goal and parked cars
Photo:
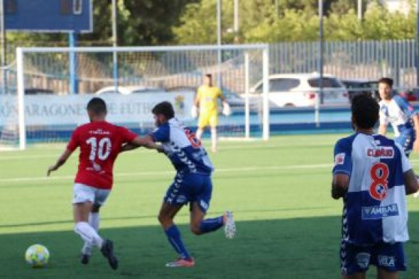
<instances>
[{"instance_id":1,"label":"tall grey metal slat fence behind the goal and parked cars","mask_svg":"<svg viewBox=\"0 0 419 279\"><path fill-rule=\"evenodd\" d=\"M378 80L380 77L386 76L392 77L395 81L395 87L399 89L417 87L415 48L415 40L325 42L323 50L324 60L322 63L323 72L340 79L353 80ZM242 60L237 60L236 57L232 58L232 56L234 56L232 53L224 53L222 55L222 64L226 65L226 67L231 67L233 64L243 62ZM270 74L317 72L320 70L320 48L318 42L273 43L269 45L269 56ZM95 79L103 80L104 84L114 84L110 74L99 76L98 73L100 71L92 70L90 74L87 72L91 67L94 69L105 68L102 66L94 67L94 65L104 64L104 61L100 60L100 58L78 59L77 65L80 67L80 72L82 72L82 74L78 75L80 84ZM194 62L205 60L206 69L211 68L211 62L214 64L213 68L216 68L217 55L215 53L194 59L196 60ZM182 79L178 82L182 87L196 87L197 84L200 84L202 72L197 67L190 67L190 55L168 52L163 56L160 54L160 57L141 58L141 60L158 61L159 68L157 72L161 73L160 67L164 65L165 75L173 75L173 78L178 76L179 79ZM60 73L54 71L53 69L61 66L55 65L54 61L47 57L34 57L30 67L31 72L27 74L28 76L33 75L33 84L28 84L28 87L40 87L39 84L43 84L43 87L53 87L44 89L52 89L54 92L62 92L64 89L64 91L67 91L70 75L68 75L68 72L67 76L65 76L62 75L63 71L60 71ZM124 61L128 62L125 63ZM158 75L156 67L148 67L148 69L142 69L141 72L138 72L138 69L131 67L130 63L130 60L119 59L119 84L128 83L129 81L136 82L138 77L141 82L147 82L148 79L148 82L153 83L153 80L156 80L156 75ZM89 67L84 67L83 65L89 65ZM251 77L250 87L260 78L257 75L260 69L253 68L256 75L254 75L254 78ZM232 92L243 92L244 79L241 76L229 75L222 77L222 84L219 85ZM166 77L165 80L167 80ZM28 79L27 82L31 82L31 79ZM55 88L58 87L57 84L61 84L60 88ZM10 67L4 71L4 75L0 79L0 88L0 92L16 90L15 62L12 62Z\"/></svg>"}]
</instances>

